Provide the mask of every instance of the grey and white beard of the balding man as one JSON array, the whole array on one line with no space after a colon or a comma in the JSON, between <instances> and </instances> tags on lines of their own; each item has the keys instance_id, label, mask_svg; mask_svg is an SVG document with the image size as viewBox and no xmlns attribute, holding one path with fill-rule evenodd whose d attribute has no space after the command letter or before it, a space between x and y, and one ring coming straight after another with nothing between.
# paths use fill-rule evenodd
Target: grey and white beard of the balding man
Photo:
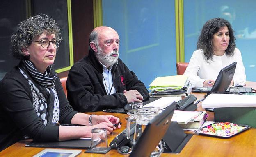
<instances>
[{"instance_id":1,"label":"grey and white beard of the balding man","mask_svg":"<svg viewBox=\"0 0 256 157\"><path fill-rule=\"evenodd\" d=\"M111 56L113 54L116 54L117 57ZM98 60L107 67L110 67L115 62L117 62L117 59L119 57L118 51L111 51L108 55L105 55L100 47L98 47L98 52L95 55L98 58Z\"/></svg>"}]
</instances>

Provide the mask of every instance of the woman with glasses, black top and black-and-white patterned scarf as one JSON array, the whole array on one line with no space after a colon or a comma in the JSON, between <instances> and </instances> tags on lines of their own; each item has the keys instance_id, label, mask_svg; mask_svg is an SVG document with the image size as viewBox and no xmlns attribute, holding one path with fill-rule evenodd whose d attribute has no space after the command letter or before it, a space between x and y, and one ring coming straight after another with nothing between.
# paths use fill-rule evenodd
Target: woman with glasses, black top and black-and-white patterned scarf
<instances>
[{"instance_id":1,"label":"woman with glasses, black top and black-and-white patterned scarf","mask_svg":"<svg viewBox=\"0 0 256 157\"><path fill-rule=\"evenodd\" d=\"M26 137L63 141L91 137L93 128L106 128L110 134L121 127L117 117L79 113L70 106L51 66L59 31L55 20L36 15L21 22L11 36L12 54L21 61L0 82L0 151Z\"/></svg>"}]
</instances>

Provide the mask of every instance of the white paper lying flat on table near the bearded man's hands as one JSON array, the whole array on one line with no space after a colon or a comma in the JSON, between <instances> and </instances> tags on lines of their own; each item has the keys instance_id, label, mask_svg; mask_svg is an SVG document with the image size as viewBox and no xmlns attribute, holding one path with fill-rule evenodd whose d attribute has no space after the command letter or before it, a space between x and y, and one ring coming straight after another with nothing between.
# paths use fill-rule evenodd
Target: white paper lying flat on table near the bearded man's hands
<instances>
[{"instance_id":1,"label":"white paper lying flat on table near the bearded man's hands","mask_svg":"<svg viewBox=\"0 0 256 157\"><path fill-rule=\"evenodd\" d=\"M178 102L179 100L181 100L181 97L161 97L160 99L146 104L143 107L160 107L161 109L164 109L171 105L174 101Z\"/></svg>"}]
</instances>

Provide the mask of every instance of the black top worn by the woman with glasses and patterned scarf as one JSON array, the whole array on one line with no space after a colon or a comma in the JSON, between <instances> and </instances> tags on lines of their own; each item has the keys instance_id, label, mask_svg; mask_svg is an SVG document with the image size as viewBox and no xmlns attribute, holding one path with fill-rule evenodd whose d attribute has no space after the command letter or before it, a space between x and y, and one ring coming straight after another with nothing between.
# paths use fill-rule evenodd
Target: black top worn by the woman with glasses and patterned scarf
<instances>
[{"instance_id":1,"label":"black top worn by the woman with glasses and patterned scarf","mask_svg":"<svg viewBox=\"0 0 256 157\"><path fill-rule=\"evenodd\" d=\"M54 84L59 98L59 122L70 124L78 112L67 101L59 78ZM18 66L5 75L0 89L0 151L24 135L42 142L59 140L59 126L45 126L34 111L31 88Z\"/></svg>"}]
</instances>

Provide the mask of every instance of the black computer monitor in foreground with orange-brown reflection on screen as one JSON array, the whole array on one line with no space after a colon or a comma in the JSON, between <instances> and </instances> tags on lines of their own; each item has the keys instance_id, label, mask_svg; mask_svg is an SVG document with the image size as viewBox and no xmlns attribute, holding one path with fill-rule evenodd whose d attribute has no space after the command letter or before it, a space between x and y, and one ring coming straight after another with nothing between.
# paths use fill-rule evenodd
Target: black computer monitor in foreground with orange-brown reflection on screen
<instances>
[{"instance_id":1,"label":"black computer monitor in foreground with orange-brown reflection on screen","mask_svg":"<svg viewBox=\"0 0 256 157\"><path fill-rule=\"evenodd\" d=\"M149 157L151 155L171 124L175 106L176 102L173 102L149 122L129 157Z\"/></svg>"}]
</instances>

